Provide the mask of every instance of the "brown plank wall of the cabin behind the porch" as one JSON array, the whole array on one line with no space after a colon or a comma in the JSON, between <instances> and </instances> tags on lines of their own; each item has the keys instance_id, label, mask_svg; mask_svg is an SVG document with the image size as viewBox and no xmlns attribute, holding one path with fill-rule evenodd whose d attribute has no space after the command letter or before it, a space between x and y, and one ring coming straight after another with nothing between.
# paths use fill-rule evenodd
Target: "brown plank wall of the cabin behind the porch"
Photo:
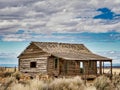
<instances>
[{"instance_id":1,"label":"brown plank wall of the cabin behind the porch","mask_svg":"<svg viewBox=\"0 0 120 90\"><path fill-rule=\"evenodd\" d=\"M83 63L80 68L80 62ZM60 75L96 75L97 62L96 61L77 61L77 60L60 60L59 61L59 74Z\"/></svg>"}]
</instances>

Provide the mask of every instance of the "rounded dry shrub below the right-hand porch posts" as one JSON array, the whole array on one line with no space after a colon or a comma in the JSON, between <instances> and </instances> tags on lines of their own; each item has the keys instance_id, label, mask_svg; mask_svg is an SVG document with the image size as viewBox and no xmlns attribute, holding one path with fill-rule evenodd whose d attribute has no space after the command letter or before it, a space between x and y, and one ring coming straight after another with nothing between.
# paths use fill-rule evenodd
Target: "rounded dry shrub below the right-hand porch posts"
<instances>
[{"instance_id":1,"label":"rounded dry shrub below the right-hand porch posts","mask_svg":"<svg viewBox=\"0 0 120 90\"><path fill-rule=\"evenodd\" d=\"M94 81L94 86L97 90L113 90L111 81L106 76L96 78Z\"/></svg>"}]
</instances>

